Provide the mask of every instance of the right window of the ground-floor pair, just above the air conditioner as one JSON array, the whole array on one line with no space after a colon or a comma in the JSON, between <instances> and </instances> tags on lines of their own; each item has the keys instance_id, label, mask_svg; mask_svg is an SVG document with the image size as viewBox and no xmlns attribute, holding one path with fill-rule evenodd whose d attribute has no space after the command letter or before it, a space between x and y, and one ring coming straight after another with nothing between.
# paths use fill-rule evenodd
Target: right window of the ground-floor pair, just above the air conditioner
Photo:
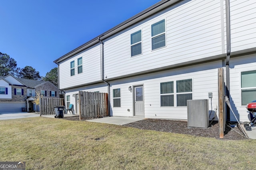
<instances>
[{"instance_id":1,"label":"right window of the ground-floor pair, just above the air conditioner","mask_svg":"<svg viewBox=\"0 0 256 170\"><path fill-rule=\"evenodd\" d=\"M187 100L192 100L192 79L176 81L177 106L187 106Z\"/></svg>"}]
</instances>

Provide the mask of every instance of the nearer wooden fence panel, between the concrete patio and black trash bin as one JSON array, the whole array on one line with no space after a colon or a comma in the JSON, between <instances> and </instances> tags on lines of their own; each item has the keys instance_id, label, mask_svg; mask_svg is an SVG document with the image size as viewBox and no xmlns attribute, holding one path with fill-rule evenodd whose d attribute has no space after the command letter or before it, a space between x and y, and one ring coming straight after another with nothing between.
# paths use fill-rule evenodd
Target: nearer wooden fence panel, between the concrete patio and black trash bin
<instances>
[{"instance_id":1,"label":"nearer wooden fence panel, between the concrete patio and black trash bin","mask_svg":"<svg viewBox=\"0 0 256 170\"><path fill-rule=\"evenodd\" d=\"M100 118L108 116L108 93L79 91L79 118Z\"/></svg>"}]
</instances>

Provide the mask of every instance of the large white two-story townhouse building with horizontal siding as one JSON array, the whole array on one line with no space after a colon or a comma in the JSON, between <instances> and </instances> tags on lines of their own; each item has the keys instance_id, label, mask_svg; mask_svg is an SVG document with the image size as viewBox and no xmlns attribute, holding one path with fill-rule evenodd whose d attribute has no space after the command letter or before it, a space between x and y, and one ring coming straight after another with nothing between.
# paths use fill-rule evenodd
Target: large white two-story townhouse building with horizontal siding
<instances>
[{"instance_id":1,"label":"large white two-story townhouse building with horizontal siding","mask_svg":"<svg viewBox=\"0 0 256 170\"><path fill-rule=\"evenodd\" d=\"M112 116L187 119L187 100L209 93L218 115L223 68L232 110L248 121L246 104L256 100L255 16L252 0L162 0L56 59L59 88L76 113L78 91L98 91L109 94ZM236 121L232 113L227 120Z\"/></svg>"}]
</instances>

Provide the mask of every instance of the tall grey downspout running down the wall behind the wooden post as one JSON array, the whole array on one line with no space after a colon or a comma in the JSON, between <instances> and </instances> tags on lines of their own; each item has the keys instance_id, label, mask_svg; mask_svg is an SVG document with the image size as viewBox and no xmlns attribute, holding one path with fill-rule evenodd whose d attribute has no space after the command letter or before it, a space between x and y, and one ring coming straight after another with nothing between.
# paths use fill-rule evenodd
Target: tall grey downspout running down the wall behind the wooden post
<instances>
[{"instance_id":1,"label":"tall grey downspout running down the wall behind the wooden post","mask_svg":"<svg viewBox=\"0 0 256 170\"><path fill-rule=\"evenodd\" d=\"M230 73L229 73L229 60L231 53L231 43L230 43L230 3L226 0L226 32L227 32L227 56L226 56L226 96L230 98ZM226 107L228 108L228 107ZM230 109L226 109L227 120L230 121Z\"/></svg>"}]
</instances>

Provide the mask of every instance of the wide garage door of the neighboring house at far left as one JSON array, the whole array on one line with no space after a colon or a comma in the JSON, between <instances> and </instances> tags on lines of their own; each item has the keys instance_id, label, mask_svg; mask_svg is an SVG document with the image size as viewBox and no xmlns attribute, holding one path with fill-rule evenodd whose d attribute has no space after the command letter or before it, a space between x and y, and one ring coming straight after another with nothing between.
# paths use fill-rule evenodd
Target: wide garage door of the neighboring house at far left
<instances>
[{"instance_id":1,"label":"wide garage door of the neighboring house at far left","mask_svg":"<svg viewBox=\"0 0 256 170\"><path fill-rule=\"evenodd\" d=\"M0 113L21 112L25 103L0 103Z\"/></svg>"}]
</instances>

